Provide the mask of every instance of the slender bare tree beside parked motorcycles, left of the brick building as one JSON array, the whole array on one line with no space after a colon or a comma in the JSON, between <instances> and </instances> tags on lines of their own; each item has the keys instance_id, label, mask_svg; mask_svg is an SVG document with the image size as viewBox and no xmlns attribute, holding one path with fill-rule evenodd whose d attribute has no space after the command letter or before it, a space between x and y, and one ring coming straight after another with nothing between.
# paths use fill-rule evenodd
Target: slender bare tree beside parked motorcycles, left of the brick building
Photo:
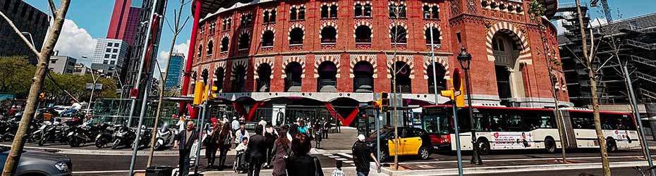
<instances>
[{"instance_id":1,"label":"slender bare tree beside parked motorcycles, left of the brick building","mask_svg":"<svg viewBox=\"0 0 656 176\"><path fill-rule=\"evenodd\" d=\"M166 20L166 25L169 25L169 29L171 30L171 33L173 33L173 39L171 39L171 48L169 48L169 58L168 61L166 62L166 70L164 70L165 73L169 73L169 64L171 62L171 56L173 56L173 50L174 46L176 45L176 39L178 39L178 34L182 32L183 28L185 25L187 25L187 22L189 21L189 16L185 18L185 21L180 24L180 20L182 18L182 9L184 8L185 5L189 4L191 1L186 1L186 0L179 0L180 1L180 7L178 9L173 9L173 20L174 24L171 26L171 23L169 23L169 18L164 18ZM189 59L189 58L188 58ZM157 125L159 125L159 113L162 110L162 99L164 99L164 85L166 85L166 74L162 72L161 67L159 66L159 62L157 62L157 68L159 68L159 74L162 78L162 82L159 83L159 101L157 101L157 113L155 113L155 122L154 122L154 127L152 128L152 138L150 139L150 153L148 154L148 163L146 164L146 167L150 167L150 164L152 163L152 154L154 153L154 146L155 146L155 138L157 137Z\"/></svg>"}]
</instances>

